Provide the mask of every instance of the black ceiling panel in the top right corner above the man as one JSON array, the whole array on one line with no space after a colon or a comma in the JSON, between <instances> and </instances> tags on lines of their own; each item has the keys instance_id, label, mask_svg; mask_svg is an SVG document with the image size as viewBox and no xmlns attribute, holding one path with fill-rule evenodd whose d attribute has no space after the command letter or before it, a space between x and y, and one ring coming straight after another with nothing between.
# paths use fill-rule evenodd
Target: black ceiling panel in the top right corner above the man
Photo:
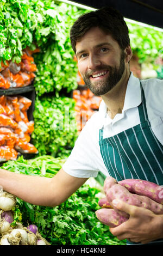
<instances>
[{"instance_id":1,"label":"black ceiling panel in the top right corner above the man","mask_svg":"<svg viewBox=\"0 0 163 256\"><path fill-rule=\"evenodd\" d=\"M163 1L158 0L76 0L72 1L99 9L111 6L124 17L163 28Z\"/></svg>"}]
</instances>

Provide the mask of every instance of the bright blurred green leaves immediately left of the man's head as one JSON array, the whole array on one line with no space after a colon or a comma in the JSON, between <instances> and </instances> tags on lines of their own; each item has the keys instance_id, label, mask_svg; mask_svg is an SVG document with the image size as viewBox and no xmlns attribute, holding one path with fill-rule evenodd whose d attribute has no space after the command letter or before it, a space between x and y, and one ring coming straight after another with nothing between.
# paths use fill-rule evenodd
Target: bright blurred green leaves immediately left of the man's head
<instances>
[{"instance_id":1,"label":"bright blurred green leaves immediately left of the man's head","mask_svg":"<svg viewBox=\"0 0 163 256\"><path fill-rule=\"evenodd\" d=\"M41 35L36 33L37 45L41 48L41 52L35 54L38 71L34 86L38 95L53 92L54 89L55 94L58 95L62 88L67 88L67 93L77 88L78 68L73 59L74 52L69 33L73 22L84 13L84 10L78 10L64 3L55 5L54 16L52 10L51 19L47 19L43 24L46 29L49 28L49 34L42 34L43 28Z\"/></svg>"}]
</instances>

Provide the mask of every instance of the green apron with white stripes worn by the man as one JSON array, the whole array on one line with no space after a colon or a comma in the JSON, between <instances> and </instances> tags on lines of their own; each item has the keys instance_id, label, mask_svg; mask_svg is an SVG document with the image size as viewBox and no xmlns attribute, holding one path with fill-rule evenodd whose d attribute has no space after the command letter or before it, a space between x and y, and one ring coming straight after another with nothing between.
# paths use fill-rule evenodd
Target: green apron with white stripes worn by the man
<instances>
[{"instance_id":1,"label":"green apron with white stripes worn by the man","mask_svg":"<svg viewBox=\"0 0 163 256\"><path fill-rule=\"evenodd\" d=\"M115 136L103 138L99 130L99 146L109 175L117 181L142 179L163 185L163 146L155 137L148 120L145 94L142 84L142 102L139 105L140 124ZM163 240L146 245L161 244ZM127 245L142 245L127 241Z\"/></svg>"}]
</instances>

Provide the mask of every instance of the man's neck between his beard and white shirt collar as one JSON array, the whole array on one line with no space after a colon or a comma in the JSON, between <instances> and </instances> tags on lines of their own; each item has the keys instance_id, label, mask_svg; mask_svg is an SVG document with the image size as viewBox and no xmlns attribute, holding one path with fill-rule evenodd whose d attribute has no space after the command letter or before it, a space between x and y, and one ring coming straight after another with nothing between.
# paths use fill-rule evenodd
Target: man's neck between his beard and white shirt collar
<instances>
[{"instance_id":1,"label":"man's neck between his beard and white shirt collar","mask_svg":"<svg viewBox=\"0 0 163 256\"><path fill-rule=\"evenodd\" d=\"M110 92L101 96L107 106L107 113L111 119L116 114L122 113L129 77L130 71L126 70L116 86Z\"/></svg>"}]
</instances>

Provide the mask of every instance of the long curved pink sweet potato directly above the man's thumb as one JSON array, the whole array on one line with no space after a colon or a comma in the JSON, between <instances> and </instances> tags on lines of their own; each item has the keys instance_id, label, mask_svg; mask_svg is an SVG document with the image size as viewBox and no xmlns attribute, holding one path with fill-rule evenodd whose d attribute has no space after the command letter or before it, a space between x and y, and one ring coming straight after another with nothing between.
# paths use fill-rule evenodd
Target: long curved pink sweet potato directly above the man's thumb
<instances>
[{"instance_id":1,"label":"long curved pink sweet potato directly above the man's thumb","mask_svg":"<svg viewBox=\"0 0 163 256\"><path fill-rule=\"evenodd\" d=\"M130 193L126 187L118 184L116 179L112 177L107 177L105 179L104 192L108 202L113 208L114 206L112 205L112 200L120 199L130 205L135 205L151 210L154 212L154 214L163 214L162 204L159 204L146 196Z\"/></svg>"}]
</instances>

